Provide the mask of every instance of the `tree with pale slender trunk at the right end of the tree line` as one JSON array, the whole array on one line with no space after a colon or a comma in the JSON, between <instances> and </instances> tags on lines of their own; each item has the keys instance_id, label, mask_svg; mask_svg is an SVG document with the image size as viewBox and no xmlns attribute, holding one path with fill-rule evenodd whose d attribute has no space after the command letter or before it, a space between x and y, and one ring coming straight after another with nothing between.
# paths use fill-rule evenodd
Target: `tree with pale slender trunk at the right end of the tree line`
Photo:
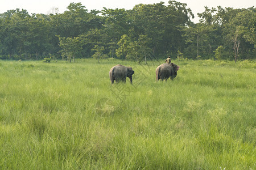
<instances>
[{"instance_id":1,"label":"tree with pale slender trunk at the right end of the tree line","mask_svg":"<svg viewBox=\"0 0 256 170\"><path fill-rule=\"evenodd\" d=\"M224 45L228 47L230 53L233 50L234 61L237 62L238 57L255 56L255 8L224 10L218 7L216 15L222 29Z\"/></svg>"}]
</instances>

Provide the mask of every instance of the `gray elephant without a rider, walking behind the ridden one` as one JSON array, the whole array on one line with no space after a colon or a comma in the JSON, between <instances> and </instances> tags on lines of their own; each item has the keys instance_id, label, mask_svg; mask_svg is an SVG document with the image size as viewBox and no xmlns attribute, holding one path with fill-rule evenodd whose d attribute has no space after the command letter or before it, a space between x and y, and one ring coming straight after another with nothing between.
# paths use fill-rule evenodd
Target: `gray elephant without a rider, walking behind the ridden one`
<instances>
[{"instance_id":1,"label":"gray elephant without a rider, walking behind the ridden one","mask_svg":"<svg viewBox=\"0 0 256 170\"><path fill-rule=\"evenodd\" d=\"M116 65L112 67L109 71L109 78L111 83L120 82L122 80L123 83L126 83L126 77L130 78L130 83L133 84L132 75L134 71L131 67L126 67L123 65Z\"/></svg>"}]
</instances>

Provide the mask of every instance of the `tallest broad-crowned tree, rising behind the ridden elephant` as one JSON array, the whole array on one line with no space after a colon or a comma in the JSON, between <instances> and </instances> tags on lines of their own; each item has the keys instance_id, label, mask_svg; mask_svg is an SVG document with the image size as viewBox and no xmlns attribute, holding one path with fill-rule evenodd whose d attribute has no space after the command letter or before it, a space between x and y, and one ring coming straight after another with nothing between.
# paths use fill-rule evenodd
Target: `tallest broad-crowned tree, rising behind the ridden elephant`
<instances>
[{"instance_id":1,"label":"tallest broad-crowned tree, rising behind the ridden elephant","mask_svg":"<svg viewBox=\"0 0 256 170\"><path fill-rule=\"evenodd\" d=\"M186 6L176 1L169 1L167 6L164 2L134 6L130 13L136 39L139 35L148 35L152 39L152 53L156 56L175 54L184 44L180 27L190 23L189 16L193 18L192 11Z\"/></svg>"}]
</instances>

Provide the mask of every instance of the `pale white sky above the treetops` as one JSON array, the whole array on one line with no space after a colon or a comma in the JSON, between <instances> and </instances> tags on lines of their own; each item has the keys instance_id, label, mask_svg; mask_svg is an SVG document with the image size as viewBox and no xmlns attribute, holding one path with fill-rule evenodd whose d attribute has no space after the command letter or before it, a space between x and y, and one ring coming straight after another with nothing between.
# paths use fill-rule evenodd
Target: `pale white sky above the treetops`
<instances>
[{"instance_id":1,"label":"pale white sky above the treetops","mask_svg":"<svg viewBox=\"0 0 256 170\"><path fill-rule=\"evenodd\" d=\"M102 10L106 8L125 8L126 10L132 9L139 3L154 4L164 2L164 5L168 5L169 0L0 0L0 14L7 10L15 10L20 8L27 10L29 14L49 14L53 11L53 8L58 8L59 13L63 13L67 10L69 3L81 2L88 11L90 10ZM193 22L198 22L199 18L197 13L204 12L204 7L209 8L221 6L233 7L233 8L248 8L256 7L256 0L176 0L177 2L187 3L187 8L191 8L195 19Z\"/></svg>"}]
</instances>

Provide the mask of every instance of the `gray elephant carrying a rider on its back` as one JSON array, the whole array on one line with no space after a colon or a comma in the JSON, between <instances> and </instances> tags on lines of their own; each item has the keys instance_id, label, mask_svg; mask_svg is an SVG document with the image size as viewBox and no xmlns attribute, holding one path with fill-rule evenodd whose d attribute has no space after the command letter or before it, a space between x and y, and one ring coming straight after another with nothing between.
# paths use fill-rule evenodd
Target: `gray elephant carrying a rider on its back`
<instances>
[{"instance_id":1,"label":"gray elephant carrying a rider on its back","mask_svg":"<svg viewBox=\"0 0 256 170\"><path fill-rule=\"evenodd\" d=\"M169 77L171 77L171 80L173 80L177 76L177 70L179 70L179 68L180 67L174 63L163 63L155 70L156 81L159 79L167 80Z\"/></svg>"}]
</instances>

